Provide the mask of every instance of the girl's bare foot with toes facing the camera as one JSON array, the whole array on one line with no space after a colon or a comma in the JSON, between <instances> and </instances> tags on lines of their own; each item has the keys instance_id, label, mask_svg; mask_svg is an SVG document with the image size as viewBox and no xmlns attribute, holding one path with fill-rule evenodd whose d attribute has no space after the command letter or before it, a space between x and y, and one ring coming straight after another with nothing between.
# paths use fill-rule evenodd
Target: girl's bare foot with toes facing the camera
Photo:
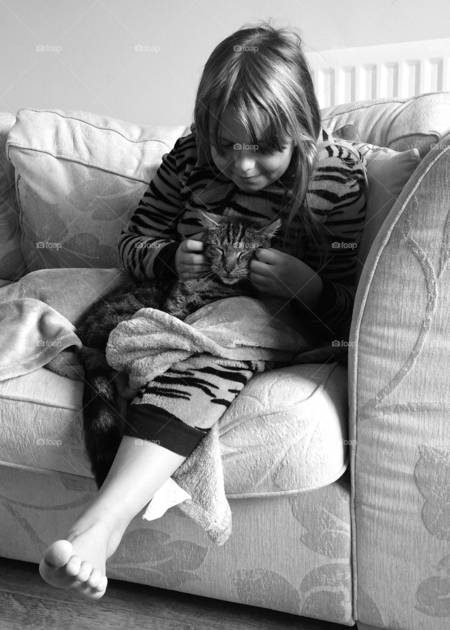
<instances>
[{"instance_id":1,"label":"girl's bare foot with toes facing the camera","mask_svg":"<svg viewBox=\"0 0 450 630\"><path fill-rule=\"evenodd\" d=\"M100 599L107 588L105 564L118 547L124 531L107 520L95 520L85 513L65 540L48 547L39 565L42 578L86 599Z\"/></svg>"}]
</instances>

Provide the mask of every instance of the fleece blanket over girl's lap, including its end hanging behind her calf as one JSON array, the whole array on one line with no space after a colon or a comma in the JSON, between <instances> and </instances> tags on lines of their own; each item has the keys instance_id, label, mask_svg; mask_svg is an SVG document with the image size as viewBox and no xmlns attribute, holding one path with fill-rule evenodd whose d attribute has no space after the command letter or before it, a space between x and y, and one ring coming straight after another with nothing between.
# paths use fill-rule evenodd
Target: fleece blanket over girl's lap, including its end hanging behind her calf
<instances>
[{"instance_id":1,"label":"fleece blanket over girl's lap, including its end hanging behind her calf","mask_svg":"<svg viewBox=\"0 0 450 630\"><path fill-rule=\"evenodd\" d=\"M310 347L276 301L235 297L209 304L185 321L156 309L141 309L112 331L107 360L114 369L126 370L127 398L133 398L170 367L182 364L183 369L197 369L211 362L211 355L230 364L233 360L290 362ZM195 411L195 401L190 406ZM192 420L195 424L195 413ZM224 544L231 534L231 510L224 490L218 421L172 478L190 495L178 508L216 544Z\"/></svg>"}]
</instances>

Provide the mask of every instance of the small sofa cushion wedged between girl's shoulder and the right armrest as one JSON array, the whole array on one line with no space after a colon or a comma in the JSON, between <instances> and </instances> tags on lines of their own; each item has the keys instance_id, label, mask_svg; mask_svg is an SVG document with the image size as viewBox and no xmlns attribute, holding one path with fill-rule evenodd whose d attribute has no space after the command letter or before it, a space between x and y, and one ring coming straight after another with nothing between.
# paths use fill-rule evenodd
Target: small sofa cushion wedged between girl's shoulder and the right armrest
<instances>
[{"instance_id":1,"label":"small sofa cushion wedged between girl's shoulder and the right armrest","mask_svg":"<svg viewBox=\"0 0 450 630\"><path fill-rule=\"evenodd\" d=\"M369 249L396 198L403 190L403 186L420 164L420 154L417 149L398 152L367 142L348 140L340 140L340 142L355 147L367 160L369 190L366 220L357 260L356 277L359 281Z\"/></svg>"}]
</instances>

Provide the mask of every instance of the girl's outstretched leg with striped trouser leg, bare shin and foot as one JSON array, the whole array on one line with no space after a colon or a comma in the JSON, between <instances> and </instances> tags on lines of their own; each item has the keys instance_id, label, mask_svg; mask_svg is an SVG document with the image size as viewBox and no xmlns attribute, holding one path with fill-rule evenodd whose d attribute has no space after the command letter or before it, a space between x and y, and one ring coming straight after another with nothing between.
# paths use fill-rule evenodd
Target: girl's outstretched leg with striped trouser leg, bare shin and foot
<instances>
[{"instance_id":1,"label":"girl's outstretched leg with striped trouser leg, bare shin and foot","mask_svg":"<svg viewBox=\"0 0 450 630\"><path fill-rule=\"evenodd\" d=\"M45 552L39 570L51 585L99 599L105 563L132 519L221 418L263 362L214 360L200 369L177 364L139 392L105 482L66 538ZM148 440L148 441L146 441Z\"/></svg>"}]
</instances>

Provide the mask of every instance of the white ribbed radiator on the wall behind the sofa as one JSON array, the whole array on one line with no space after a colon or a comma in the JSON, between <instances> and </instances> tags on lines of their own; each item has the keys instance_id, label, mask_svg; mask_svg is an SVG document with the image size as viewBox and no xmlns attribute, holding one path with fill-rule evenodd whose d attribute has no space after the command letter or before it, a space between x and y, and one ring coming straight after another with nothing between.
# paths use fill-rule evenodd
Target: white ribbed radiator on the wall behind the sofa
<instances>
[{"instance_id":1,"label":"white ribbed radiator on the wall behind the sofa","mask_svg":"<svg viewBox=\"0 0 450 630\"><path fill-rule=\"evenodd\" d=\"M306 55L322 107L450 91L450 38L340 47Z\"/></svg>"}]
</instances>

